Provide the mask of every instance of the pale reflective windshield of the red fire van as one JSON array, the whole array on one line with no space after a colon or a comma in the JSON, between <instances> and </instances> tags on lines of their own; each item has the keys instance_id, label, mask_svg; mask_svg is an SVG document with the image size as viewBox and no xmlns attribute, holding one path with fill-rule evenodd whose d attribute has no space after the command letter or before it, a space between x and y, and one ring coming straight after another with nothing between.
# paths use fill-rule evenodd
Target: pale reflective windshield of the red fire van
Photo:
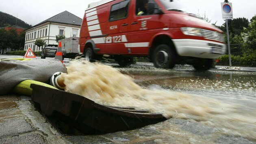
<instances>
[{"instance_id":1,"label":"pale reflective windshield of the red fire van","mask_svg":"<svg viewBox=\"0 0 256 144\"><path fill-rule=\"evenodd\" d=\"M184 6L181 0L159 0L163 6L169 11L180 11L190 13L189 9Z\"/></svg>"}]
</instances>

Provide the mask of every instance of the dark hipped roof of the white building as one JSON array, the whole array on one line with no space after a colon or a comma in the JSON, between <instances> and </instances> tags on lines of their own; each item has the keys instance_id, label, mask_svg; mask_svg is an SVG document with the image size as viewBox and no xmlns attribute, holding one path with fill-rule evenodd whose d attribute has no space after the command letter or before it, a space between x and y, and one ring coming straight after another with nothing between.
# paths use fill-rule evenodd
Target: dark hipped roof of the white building
<instances>
[{"instance_id":1,"label":"dark hipped roof of the white building","mask_svg":"<svg viewBox=\"0 0 256 144\"><path fill-rule=\"evenodd\" d=\"M45 21L38 23L37 25L41 25L46 22L64 23L69 25L81 26L82 19L80 17L77 17L76 15L73 15L72 13L69 13L68 11L63 11L62 13L54 15L53 17L50 17L49 19L46 19ZM37 25L34 25L33 27Z\"/></svg>"}]
</instances>

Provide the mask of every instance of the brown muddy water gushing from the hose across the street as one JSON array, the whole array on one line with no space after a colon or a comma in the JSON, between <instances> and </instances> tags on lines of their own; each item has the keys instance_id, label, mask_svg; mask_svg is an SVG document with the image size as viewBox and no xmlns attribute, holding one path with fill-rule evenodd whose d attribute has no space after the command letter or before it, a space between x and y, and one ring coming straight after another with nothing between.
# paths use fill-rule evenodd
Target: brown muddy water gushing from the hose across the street
<instances>
[{"instance_id":1,"label":"brown muddy water gushing from the hose across the street","mask_svg":"<svg viewBox=\"0 0 256 144\"><path fill-rule=\"evenodd\" d=\"M66 85L65 91L82 95L99 104L146 109L161 113L168 119L195 120L211 125L216 131L228 136L256 141L255 100L240 104L208 96L209 93L184 93L157 85L146 89L111 66L87 61L72 61L67 67L67 74L61 76ZM198 85L195 82L191 80L189 83ZM251 87L255 93L254 82ZM217 85L213 87L216 88Z\"/></svg>"}]
</instances>

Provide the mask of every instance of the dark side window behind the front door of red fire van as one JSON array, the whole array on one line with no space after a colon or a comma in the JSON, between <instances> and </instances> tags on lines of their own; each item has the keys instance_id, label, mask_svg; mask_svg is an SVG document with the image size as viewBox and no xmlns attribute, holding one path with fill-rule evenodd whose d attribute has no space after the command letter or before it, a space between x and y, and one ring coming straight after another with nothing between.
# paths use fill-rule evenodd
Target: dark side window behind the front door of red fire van
<instances>
[{"instance_id":1,"label":"dark side window behind the front door of red fire van","mask_svg":"<svg viewBox=\"0 0 256 144\"><path fill-rule=\"evenodd\" d=\"M115 21L119 19L125 19L128 15L129 2L130 0L124 0L117 4L113 4L111 6L111 11L108 20Z\"/></svg>"}]
</instances>

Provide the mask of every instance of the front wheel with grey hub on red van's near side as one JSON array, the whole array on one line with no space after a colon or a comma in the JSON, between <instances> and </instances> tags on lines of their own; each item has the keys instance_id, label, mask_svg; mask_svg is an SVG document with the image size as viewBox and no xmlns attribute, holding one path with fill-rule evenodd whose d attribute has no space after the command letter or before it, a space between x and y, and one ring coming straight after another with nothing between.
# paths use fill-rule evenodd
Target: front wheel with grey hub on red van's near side
<instances>
[{"instance_id":1,"label":"front wheel with grey hub on red van's near side","mask_svg":"<svg viewBox=\"0 0 256 144\"><path fill-rule=\"evenodd\" d=\"M160 44L152 54L152 62L156 68L171 69L175 66L176 54L166 44Z\"/></svg>"}]
</instances>

